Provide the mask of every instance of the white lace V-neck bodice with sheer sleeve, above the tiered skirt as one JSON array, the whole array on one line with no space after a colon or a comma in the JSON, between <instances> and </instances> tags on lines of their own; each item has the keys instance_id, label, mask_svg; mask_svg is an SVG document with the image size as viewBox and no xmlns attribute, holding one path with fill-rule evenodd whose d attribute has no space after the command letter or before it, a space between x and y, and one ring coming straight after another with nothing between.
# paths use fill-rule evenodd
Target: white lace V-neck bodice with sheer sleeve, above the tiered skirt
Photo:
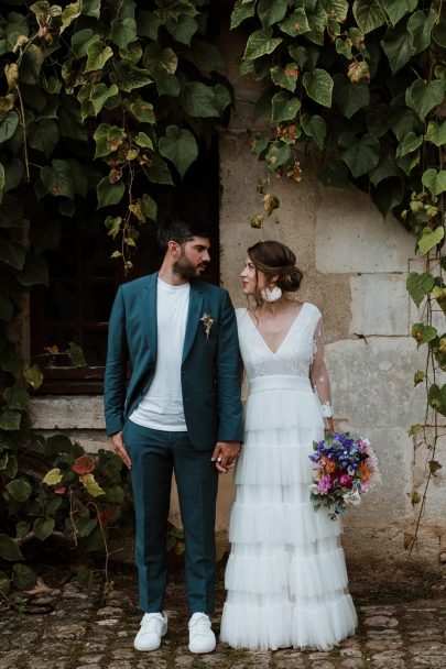
<instances>
[{"instance_id":1,"label":"white lace V-neck bodice with sheer sleeve, above the tiered skirt","mask_svg":"<svg viewBox=\"0 0 446 669\"><path fill-rule=\"evenodd\" d=\"M236 315L240 352L248 382L272 374L309 377L319 398L323 415L333 416L319 309L308 301L304 303L275 353L260 334L247 309L236 309Z\"/></svg>"}]
</instances>

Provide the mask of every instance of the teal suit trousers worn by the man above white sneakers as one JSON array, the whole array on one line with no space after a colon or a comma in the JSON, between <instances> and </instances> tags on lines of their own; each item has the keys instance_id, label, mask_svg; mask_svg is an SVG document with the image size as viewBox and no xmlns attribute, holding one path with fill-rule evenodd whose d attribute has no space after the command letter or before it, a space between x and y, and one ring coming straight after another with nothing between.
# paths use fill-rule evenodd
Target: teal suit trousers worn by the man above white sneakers
<instances>
[{"instance_id":1,"label":"teal suit trousers worn by the man above white sneakers","mask_svg":"<svg viewBox=\"0 0 446 669\"><path fill-rule=\"evenodd\" d=\"M135 562L140 607L161 612L167 582L166 527L172 474L185 537L186 595L191 614L211 613L215 597L215 509L218 472L211 451L193 447L187 432L153 430L127 420L123 440L132 461Z\"/></svg>"}]
</instances>

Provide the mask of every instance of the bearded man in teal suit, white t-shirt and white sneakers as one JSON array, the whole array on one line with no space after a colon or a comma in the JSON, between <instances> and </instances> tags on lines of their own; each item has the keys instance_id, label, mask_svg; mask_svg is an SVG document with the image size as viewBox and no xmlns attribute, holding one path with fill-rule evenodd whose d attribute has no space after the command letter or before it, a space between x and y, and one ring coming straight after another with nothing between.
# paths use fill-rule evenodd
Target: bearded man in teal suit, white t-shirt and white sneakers
<instances>
[{"instance_id":1,"label":"bearded man in teal suit, white t-shirt and white sneakers","mask_svg":"<svg viewBox=\"0 0 446 669\"><path fill-rule=\"evenodd\" d=\"M144 611L134 647L154 650L167 632L165 536L175 472L189 650L210 652L218 472L233 467L242 439L237 326L228 293L198 279L210 261L208 233L172 219L160 227L159 241L160 272L121 285L111 311L107 434L131 469Z\"/></svg>"}]
</instances>

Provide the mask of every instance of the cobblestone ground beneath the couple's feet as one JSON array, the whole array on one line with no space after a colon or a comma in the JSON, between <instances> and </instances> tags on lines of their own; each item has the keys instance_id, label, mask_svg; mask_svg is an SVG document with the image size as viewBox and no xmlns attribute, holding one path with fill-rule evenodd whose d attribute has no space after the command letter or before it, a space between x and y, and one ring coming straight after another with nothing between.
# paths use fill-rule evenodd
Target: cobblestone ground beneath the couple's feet
<instances>
[{"instance_id":1,"label":"cobblestone ground beneath the couple's feet","mask_svg":"<svg viewBox=\"0 0 446 669\"><path fill-rule=\"evenodd\" d=\"M73 568L72 568L73 569ZM225 597L219 568L214 628ZM329 652L187 650L184 572L173 564L166 610L168 633L160 650L137 652L141 617L134 572L111 569L113 588L83 591L67 566L42 566L47 589L23 611L0 608L0 669L446 669L446 578L412 563L349 563L350 592L359 614L355 637Z\"/></svg>"}]
</instances>

